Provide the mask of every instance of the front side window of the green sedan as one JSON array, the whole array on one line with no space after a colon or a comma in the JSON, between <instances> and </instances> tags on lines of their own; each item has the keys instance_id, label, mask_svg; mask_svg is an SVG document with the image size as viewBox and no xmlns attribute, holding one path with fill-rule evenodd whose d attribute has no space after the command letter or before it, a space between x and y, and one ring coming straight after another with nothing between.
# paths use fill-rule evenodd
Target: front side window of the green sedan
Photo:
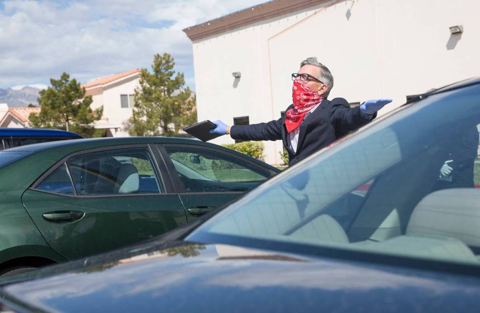
<instances>
[{"instance_id":1,"label":"front side window of the green sedan","mask_svg":"<svg viewBox=\"0 0 480 313\"><path fill-rule=\"evenodd\" d=\"M166 147L188 193L248 191L271 174L247 162L211 150Z\"/></svg>"}]
</instances>

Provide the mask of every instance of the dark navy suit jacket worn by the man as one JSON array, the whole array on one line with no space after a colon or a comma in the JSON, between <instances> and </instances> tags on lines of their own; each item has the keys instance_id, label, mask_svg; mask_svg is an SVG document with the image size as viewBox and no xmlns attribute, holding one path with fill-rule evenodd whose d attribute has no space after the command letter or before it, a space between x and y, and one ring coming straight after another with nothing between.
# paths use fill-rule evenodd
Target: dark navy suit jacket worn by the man
<instances>
[{"instance_id":1,"label":"dark navy suit jacket worn by the man","mask_svg":"<svg viewBox=\"0 0 480 313\"><path fill-rule=\"evenodd\" d=\"M292 107L293 104L288 106L287 111ZM296 153L288 147L290 136L285 127L285 116L268 123L232 126L230 136L239 140L282 140L288 151L288 165L292 166L376 116L375 113L370 120L365 119L360 107L350 108L344 98L323 100L320 107L300 124Z\"/></svg>"}]
</instances>

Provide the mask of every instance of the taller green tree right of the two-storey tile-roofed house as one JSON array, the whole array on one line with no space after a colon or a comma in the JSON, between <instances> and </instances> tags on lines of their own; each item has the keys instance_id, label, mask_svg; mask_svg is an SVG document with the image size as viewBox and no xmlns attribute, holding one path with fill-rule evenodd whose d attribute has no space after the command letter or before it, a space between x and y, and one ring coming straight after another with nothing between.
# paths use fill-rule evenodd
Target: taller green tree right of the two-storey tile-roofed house
<instances>
[{"instance_id":1,"label":"taller green tree right of the two-storey tile-roofed house","mask_svg":"<svg viewBox=\"0 0 480 313\"><path fill-rule=\"evenodd\" d=\"M152 73L142 69L133 115L127 123L130 135L176 134L196 121L195 97L190 88L184 88L184 75L175 73L174 66L172 56L164 53L153 57Z\"/></svg>"}]
</instances>

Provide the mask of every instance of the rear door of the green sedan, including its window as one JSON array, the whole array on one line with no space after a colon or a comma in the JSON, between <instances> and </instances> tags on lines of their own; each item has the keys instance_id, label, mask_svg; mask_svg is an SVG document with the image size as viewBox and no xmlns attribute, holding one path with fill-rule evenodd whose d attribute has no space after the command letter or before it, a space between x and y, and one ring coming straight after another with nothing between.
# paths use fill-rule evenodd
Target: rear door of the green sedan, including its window
<instances>
[{"instance_id":1,"label":"rear door of the green sedan, including its window","mask_svg":"<svg viewBox=\"0 0 480 313\"><path fill-rule=\"evenodd\" d=\"M82 151L42 175L22 201L52 248L76 259L186 223L184 207L153 148L137 144Z\"/></svg>"}]
</instances>

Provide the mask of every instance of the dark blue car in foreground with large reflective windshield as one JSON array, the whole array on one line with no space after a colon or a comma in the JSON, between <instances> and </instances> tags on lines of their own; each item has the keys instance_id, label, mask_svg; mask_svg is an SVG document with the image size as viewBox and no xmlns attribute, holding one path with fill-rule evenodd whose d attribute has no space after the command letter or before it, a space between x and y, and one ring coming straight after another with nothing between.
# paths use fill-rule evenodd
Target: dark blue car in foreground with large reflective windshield
<instances>
[{"instance_id":1,"label":"dark blue car in foreground with large reflective windshield","mask_svg":"<svg viewBox=\"0 0 480 313\"><path fill-rule=\"evenodd\" d=\"M478 312L480 79L419 98L190 225L12 277L0 302L14 312Z\"/></svg>"}]
</instances>

